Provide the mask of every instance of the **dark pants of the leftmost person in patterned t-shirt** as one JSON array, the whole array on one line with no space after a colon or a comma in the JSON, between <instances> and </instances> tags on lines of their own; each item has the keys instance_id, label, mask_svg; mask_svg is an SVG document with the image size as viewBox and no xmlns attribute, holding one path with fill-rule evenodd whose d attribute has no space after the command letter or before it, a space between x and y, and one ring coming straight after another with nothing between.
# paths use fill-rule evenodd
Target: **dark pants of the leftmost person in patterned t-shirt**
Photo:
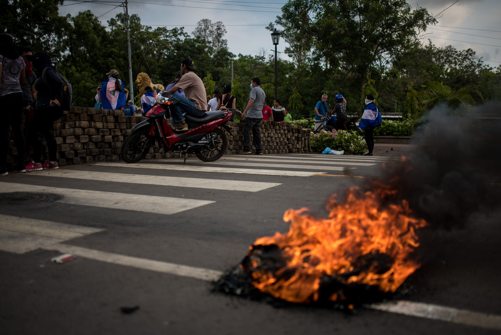
<instances>
[{"instance_id":1,"label":"dark pants of the leftmost person in patterned t-shirt","mask_svg":"<svg viewBox=\"0 0 501 335\"><path fill-rule=\"evenodd\" d=\"M25 165L25 135L23 134L23 93L11 93L0 97L2 109L2 142L0 143L0 168L7 169L7 154L11 146L9 126L12 125L14 142L18 149L17 167Z\"/></svg>"}]
</instances>

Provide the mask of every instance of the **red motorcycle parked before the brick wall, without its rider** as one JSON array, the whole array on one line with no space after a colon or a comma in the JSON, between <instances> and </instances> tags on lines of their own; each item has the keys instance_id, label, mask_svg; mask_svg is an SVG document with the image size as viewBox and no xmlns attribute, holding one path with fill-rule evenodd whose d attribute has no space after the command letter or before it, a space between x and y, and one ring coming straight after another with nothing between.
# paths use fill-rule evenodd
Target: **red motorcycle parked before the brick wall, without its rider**
<instances>
[{"instance_id":1,"label":"red motorcycle parked before the brick wall, without its rider","mask_svg":"<svg viewBox=\"0 0 501 335\"><path fill-rule=\"evenodd\" d=\"M228 121L234 110L205 112L200 117L185 114L188 130L181 132L173 129L167 117L170 117L169 106L182 102L163 90L157 89L154 95L157 103L146 113L148 119L136 124L122 145L125 162L136 163L144 158L155 140L163 145L165 152L184 153L184 162L189 153L203 161L221 158L228 147L228 137L220 127L233 135Z\"/></svg>"}]
</instances>

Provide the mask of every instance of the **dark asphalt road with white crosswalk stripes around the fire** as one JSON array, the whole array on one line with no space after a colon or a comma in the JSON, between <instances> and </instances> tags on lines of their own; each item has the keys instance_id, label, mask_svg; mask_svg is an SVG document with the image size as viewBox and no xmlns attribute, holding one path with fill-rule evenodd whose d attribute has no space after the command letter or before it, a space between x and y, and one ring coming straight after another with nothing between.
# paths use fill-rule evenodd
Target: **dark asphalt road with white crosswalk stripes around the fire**
<instances>
[{"instance_id":1,"label":"dark asphalt road with white crosswalk stripes around the fire","mask_svg":"<svg viewBox=\"0 0 501 335\"><path fill-rule=\"evenodd\" d=\"M286 210L325 215L327 197L410 148L379 145L373 157L112 162L2 177L1 333L499 333L499 212L479 213L461 230L423 232L424 263L398 304L347 315L211 291L211 280L257 238L288 230ZM76 259L51 261L65 253Z\"/></svg>"}]
</instances>

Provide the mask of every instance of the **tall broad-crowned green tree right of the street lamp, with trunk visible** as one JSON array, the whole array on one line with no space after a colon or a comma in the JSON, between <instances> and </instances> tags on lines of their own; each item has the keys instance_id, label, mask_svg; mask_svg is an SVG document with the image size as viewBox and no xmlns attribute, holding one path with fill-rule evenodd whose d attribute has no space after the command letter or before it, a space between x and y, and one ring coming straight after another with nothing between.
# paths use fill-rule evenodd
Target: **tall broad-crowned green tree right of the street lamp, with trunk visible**
<instances>
[{"instance_id":1,"label":"tall broad-crowned green tree right of the street lamp, with trunk visible","mask_svg":"<svg viewBox=\"0 0 501 335\"><path fill-rule=\"evenodd\" d=\"M282 11L312 39L327 67L358 81L360 102L367 74L383 72L436 23L426 9L411 11L405 0L292 0Z\"/></svg>"}]
</instances>

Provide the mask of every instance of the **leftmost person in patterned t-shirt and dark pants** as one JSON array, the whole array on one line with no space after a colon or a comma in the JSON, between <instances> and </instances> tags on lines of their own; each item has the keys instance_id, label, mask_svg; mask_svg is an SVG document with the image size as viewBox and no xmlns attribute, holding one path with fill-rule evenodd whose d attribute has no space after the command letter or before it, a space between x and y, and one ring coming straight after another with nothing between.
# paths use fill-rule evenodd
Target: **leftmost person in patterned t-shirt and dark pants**
<instances>
[{"instance_id":1,"label":"leftmost person in patterned t-shirt and dark pants","mask_svg":"<svg viewBox=\"0 0 501 335\"><path fill-rule=\"evenodd\" d=\"M2 122L0 131L0 176L7 176L7 154L10 138L9 126L18 150L18 163L14 172L26 172L25 136L23 134L23 91L21 84L25 82L26 63L14 47L14 39L9 34L0 34L0 108Z\"/></svg>"}]
</instances>

